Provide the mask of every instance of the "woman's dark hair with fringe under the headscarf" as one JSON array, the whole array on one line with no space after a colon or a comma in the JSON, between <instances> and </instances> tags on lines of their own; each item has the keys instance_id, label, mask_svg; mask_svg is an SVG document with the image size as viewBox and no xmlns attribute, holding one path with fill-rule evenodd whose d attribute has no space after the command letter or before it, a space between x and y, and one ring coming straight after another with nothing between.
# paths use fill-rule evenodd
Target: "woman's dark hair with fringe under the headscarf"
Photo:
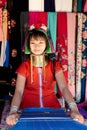
<instances>
[{"instance_id":1,"label":"woman's dark hair with fringe under the headscarf","mask_svg":"<svg viewBox=\"0 0 87 130\"><path fill-rule=\"evenodd\" d=\"M32 29L31 31L29 31L29 35L28 35L28 39L27 39L29 50L30 50L30 39L32 37L35 39L37 39L38 37L43 37L46 40L46 43L48 43L48 39L47 39L46 33L44 31L39 30L39 29Z\"/></svg>"}]
</instances>

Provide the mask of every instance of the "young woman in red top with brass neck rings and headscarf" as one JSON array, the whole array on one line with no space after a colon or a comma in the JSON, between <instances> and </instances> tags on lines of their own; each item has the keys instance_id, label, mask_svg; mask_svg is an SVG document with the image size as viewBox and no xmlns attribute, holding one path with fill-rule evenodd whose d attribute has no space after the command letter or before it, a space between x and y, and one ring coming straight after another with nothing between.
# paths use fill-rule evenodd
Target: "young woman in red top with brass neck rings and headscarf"
<instances>
[{"instance_id":1,"label":"young woman in red top with brass neck rings and headscarf","mask_svg":"<svg viewBox=\"0 0 87 130\"><path fill-rule=\"evenodd\" d=\"M58 61L49 58L50 41L43 26L30 29L25 50L30 54L17 69L16 90L6 119L8 125L16 124L17 111L27 107L60 108L54 92L55 82L71 109L71 117L83 122L77 105L68 89L62 68Z\"/></svg>"}]
</instances>

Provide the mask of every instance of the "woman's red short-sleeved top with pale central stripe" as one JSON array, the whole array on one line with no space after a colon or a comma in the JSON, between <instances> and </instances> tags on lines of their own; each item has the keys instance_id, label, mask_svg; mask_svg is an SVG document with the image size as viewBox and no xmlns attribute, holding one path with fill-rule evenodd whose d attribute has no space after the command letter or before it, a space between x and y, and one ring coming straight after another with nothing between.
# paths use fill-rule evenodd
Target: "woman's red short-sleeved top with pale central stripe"
<instances>
[{"instance_id":1,"label":"woman's red short-sleeved top with pale central stripe","mask_svg":"<svg viewBox=\"0 0 87 130\"><path fill-rule=\"evenodd\" d=\"M54 64L50 61L45 66L45 78L44 81L42 76L42 86L40 86L38 67L33 66L33 82L30 81L30 61L24 61L19 68L17 73L26 77L26 84L24 88L24 95L20 108L24 109L27 107L43 107L60 108L60 104L54 92L55 78L54 70L58 72L61 70L60 64L55 61ZM43 74L42 74L43 75Z\"/></svg>"}]
</instances>

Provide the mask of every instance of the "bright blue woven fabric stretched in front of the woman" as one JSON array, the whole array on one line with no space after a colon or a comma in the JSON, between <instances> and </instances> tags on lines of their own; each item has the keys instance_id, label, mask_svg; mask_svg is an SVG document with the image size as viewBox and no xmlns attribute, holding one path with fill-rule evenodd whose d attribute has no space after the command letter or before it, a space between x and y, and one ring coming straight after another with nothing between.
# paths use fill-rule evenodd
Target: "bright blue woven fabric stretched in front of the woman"
<instances>
[{"instance_id":1,"label":"bright blue woven fabric stretched in front of the woman","mask_svg":"<svg viewBox=\"0 0 87 130\"><path fill-rule=\"evenodd\" d=\"M36 115L40 117L26 118L28 113L29 117ZM42 118L42 114L44 118ZM47 117L55 117L48 118ZM58 118L56 118L58 117ZM26 118L26 119L25 119ZM29 108L25 109L21 115L20 120L10 130L87 130L85 125L82 125L72 120L64 111L64 109L51 109L51 108Z\"/></svg>"}]
</instances>

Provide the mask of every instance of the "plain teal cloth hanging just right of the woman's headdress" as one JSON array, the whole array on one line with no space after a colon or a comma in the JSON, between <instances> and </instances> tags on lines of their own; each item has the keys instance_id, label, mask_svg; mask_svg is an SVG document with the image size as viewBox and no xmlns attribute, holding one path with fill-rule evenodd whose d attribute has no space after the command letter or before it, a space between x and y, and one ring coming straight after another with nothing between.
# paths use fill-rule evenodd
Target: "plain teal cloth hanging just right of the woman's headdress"
<instances>
[{"instance_id":1,"label":"plain teal cloth hanging just right of the woman's headdress","mask_svg":"<svg viewBox=\"0 0 87 130\"><path fill-rule=\"evenodd\" d=\"M56 36L57 36L56 27L57 27L57 13L48 12L48 33L50 39L52 40L55 52L56 52Z\"/></svg>"}]
</instances>

